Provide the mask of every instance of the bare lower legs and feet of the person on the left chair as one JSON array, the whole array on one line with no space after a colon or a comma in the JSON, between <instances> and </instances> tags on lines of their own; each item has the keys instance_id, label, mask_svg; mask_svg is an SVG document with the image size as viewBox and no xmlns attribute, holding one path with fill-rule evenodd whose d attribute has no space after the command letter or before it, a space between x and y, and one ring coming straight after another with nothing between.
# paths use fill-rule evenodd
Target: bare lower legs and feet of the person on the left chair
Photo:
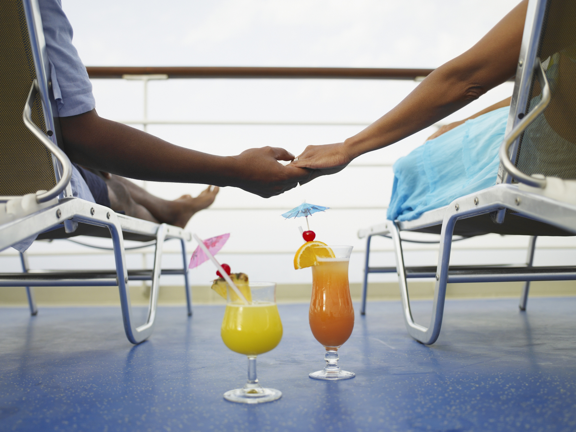
<instances>
[{"instance_id":1,"label":"bare lower legs and feet of the person on the left chair","mask_svg":"<svg viewBox=\"0 0 576 432\"><path fill-rule=\"evenodd\" d=\"M144 209L147 213L147 217L135 217L156 220L161 223L165 222L181 228L185 227L194 213L209 207L214 202L219 190L218 186L208 186L198 197L183 195L176 200L168 201L146 192L146 190L135 185L127 178L111 174L108 174L108 176L109 178L106 179L106 182L109 189L112 185L115 185L115 189L123 189L128 192L130 201L137 206L132 206L131 211L137 211L139 215L142 215L142 209ZM105 175L105 177L108 176ZM153 219L150 219L150 217Z\"/></svg>"}]
</instances>

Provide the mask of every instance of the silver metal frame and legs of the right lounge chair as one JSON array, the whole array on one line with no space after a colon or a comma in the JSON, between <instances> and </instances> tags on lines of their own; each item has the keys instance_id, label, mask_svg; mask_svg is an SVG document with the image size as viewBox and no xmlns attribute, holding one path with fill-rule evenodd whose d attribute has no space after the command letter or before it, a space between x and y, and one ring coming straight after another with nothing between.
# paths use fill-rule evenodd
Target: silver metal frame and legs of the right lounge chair
<instances>
[{"instance_id":1,"label":"silver metal frame and legs of the right lounge chair","mask_svg":"<svg viewBox=\"0 0 576 432\"><path fill-rule=\"evenodd\" d=\"M501 166L498 184L480 192L457 198L448 206L425 212L419 219L411 221L389 220L367 230L360 230L358 232L359 238L367 237L362 286L362 315L366 311L368 274L396 272L399 277L401 303L408 333L417 341L430 345L437 340L440 333L446 298L446 284L448 283L524 281L525 285L522 289L519 305L520 309L524 311L528 301L530 281L576 280L576 266L532 266L536 236L530 238L525 265L449 266L454 225L458 219L495 212L497 215L496 222L502 223L506 209L513 209L520 216L554 225L563 230L574 232L576 235L576 205L528 192L511 184L512 178L540 188L546 184L545 179L528 177L521 173L512 162L516 160L519 137L522 132L543 112L551 98L550 86L548 86L540 60L536 57L546 3L546 0L530 0L528 5L509 121L499 154ZM533 73L537 74L540 81L542 97L540 103L524 116L523 111L528 101ZM522 115L519 116L518 114ZM406 267L400 231L417 231L440 224L442 228L437 266ZM396 267L369 266L370 240L374 235L390 235L392 237ZM407 278L435 278L432 316L428 327L415 323L412 318Z\"/></svg>"}]
</instances>

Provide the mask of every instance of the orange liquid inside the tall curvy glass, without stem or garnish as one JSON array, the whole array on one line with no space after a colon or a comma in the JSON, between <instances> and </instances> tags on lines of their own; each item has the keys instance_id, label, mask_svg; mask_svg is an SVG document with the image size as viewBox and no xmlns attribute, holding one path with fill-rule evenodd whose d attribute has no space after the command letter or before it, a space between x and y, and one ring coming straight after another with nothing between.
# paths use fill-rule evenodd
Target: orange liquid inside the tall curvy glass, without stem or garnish
<instances>
[{"instance_id":1,"label":"orange liquid inside the tall curvy glass, without stem or garnish","mask_svg":"<svg viewBox=\"0 0 576 432\"><path fill-rule=\"evenodd\" d=\"M354 328L354 308L348 285L348 259L319 258L312 267L312 301L308 312L314 338L336 349Z\"/></svg>"}]
</instances>

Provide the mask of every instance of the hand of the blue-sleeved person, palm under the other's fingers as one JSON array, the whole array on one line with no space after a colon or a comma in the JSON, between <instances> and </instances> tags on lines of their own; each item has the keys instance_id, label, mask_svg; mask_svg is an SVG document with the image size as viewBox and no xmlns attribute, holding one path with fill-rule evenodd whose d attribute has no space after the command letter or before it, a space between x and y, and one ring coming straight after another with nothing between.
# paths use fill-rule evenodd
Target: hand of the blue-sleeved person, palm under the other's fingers
<instances>
[{"instance_id":1,"label":"hand of the blue-sleeved person, palm under the other's fingers","mask_svg":"<svg viewBox=\"0 0 576 432\"><path fill-rule=\"evenodd\" d=\"M263 198L295 188L298 182L308 181L313 172L279 163L278 160L293 160L294 155L278 147L249 148L232 158L236 160L234 177L237 180L231 186Z\"/></svg>"}]
</instances>

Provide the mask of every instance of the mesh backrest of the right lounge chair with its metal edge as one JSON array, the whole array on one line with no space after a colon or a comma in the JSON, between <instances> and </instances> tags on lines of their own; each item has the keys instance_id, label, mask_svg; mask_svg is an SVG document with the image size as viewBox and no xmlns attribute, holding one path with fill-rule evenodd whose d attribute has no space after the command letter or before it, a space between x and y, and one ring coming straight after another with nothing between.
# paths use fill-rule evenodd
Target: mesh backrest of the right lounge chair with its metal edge
<instances>
[{"instance_id":1,"label":"mesh backrest of the right lounge chair with its metal edge","mask_svg":"<svg viewBox=\"0 0 576 432\"><path fill-rule=\"evenodd\" d=\"M576 1L529 1L506 133L540 102L533 73L538 59L550 83L551 102L510 154L525 174L576 179ZM513 181L501 166L498 182Z\"/></svg>"}]
</instances>

